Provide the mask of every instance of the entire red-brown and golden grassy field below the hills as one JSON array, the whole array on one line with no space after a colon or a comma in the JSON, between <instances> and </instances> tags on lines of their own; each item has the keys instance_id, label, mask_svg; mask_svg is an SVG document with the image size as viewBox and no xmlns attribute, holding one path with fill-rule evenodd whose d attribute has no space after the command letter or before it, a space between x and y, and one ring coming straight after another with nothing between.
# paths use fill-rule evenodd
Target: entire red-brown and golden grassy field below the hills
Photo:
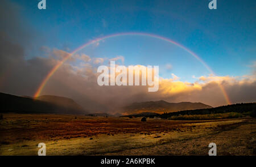
<instances>
[{"instance_id":1,"label":"entire red-brown and golden grassy field below the hills","mask_svg":"<svg viewBox=\"0 0 256 167\"><path fill-rule=\"evenodd\" d=\"M168 120L3 114L0 155L255 155L255 119Z\"/></svg>"}]
</instances>

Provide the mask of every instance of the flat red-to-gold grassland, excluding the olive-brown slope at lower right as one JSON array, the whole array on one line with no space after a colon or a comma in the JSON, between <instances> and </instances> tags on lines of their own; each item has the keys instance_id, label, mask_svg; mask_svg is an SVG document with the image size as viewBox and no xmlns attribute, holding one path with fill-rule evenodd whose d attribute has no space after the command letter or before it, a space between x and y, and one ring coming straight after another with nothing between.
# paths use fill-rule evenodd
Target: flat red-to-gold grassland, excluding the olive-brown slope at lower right
<instances>
[{"instance_id":1,"label":"flat red-to-gold grassland, excluding the olive-brown slope at lower right","mask_svg":"<svg viewBox=\"0 0 256 167\"><path fill-rule=\"evenodd\" d=\"M249 120L253 119L246 122ZM245 119L147 119L147 122L141 122L141 118L3 114L0 121L0 155L37 155L37 145L41 142L47 145L47 155L121 155L122 152L129 150L147 150L151 147L191 141L216 132L229 131L242 125L243 121ZM175 147L179 149L181 146L177 144ZM154 152L154 155L161 154Z\"/></svg>"}]
</instances>

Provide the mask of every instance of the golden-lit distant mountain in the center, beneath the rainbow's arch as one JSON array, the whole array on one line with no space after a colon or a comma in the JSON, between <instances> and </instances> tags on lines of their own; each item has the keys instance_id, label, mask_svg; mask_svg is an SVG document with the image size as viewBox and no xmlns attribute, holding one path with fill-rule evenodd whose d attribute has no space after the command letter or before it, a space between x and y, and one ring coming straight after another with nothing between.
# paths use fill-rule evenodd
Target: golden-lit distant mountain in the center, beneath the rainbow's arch
<instances>
[{"instance_id":1,"label":"golden-lit distant mountain in the center, beneath the rainbow's arch","mask_svg":"<svg viewBox=\"0 0 256 167\"><path fill-rule=\"evenodd\" d=\"M201 102L167 102L160 101L146 101L146 102L134 102L129 106L125 106L122 111L124 114L138 114L143 112L154 113L171 113L181 110L194 110L212 108L212 106L203 104Z\"/></svg>"}]
</instances>

